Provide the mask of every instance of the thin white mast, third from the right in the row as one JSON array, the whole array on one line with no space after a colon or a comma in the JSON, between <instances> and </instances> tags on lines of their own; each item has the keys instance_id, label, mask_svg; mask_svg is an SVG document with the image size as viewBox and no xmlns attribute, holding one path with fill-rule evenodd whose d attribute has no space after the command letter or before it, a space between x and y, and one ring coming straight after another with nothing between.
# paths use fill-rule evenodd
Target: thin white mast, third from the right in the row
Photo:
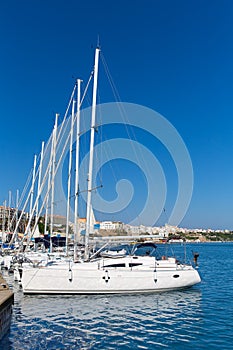
<instances>
[{"instance_id":1,"label":"thin white mast, third from the right in the row","mask_svg":"<svg viewBox=\"0 0 233 350\"><path fill-rule=\"evenodd\" d=\"M71 188L71 170L72 170L72 148L73 148L73 128L74 128L74 105L73 100L70 125L70 151L69 151L69 167L68 167L68 184L67 184L67 207L66 207L66 255L68 254L68 236L69 236L69 220L70 220L70 188Z\"/></svg>"}]
</instances>

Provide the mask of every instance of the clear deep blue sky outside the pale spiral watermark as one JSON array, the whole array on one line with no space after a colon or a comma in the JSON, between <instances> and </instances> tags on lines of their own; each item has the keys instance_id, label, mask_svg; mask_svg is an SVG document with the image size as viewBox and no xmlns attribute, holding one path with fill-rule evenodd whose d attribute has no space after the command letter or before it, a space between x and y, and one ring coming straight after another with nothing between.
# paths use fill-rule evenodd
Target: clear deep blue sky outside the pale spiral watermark
<instances>
[{"instance_id":1,"label":"clear deep blue sky outside the pale spiral watermark","mask_svg":"<svg viewBox=\"0 0 233 350\"><path fill-rule=\"evenodd\" d=\"M180 225L233 229L230 0L2 1L0 203L22 190L74 77L88 78L97 35L121 100L161 113L186 143L194 191Z\"/></svg>"}]
</instances>

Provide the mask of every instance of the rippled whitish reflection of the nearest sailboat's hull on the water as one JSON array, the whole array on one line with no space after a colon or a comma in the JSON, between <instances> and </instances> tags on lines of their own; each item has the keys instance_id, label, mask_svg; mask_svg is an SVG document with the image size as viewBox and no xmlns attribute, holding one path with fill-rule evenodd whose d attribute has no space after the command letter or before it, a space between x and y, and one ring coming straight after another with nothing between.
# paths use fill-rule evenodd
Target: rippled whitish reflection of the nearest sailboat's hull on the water
<instances>
[{"instance_id":1,"label":"rippled whitish reflection of the nearest sailboat's hull on the water","mask_svg":"<svg viewBox=\"0 0 233 350\"><path fill-rule=\"evenodd\" d=\"M29 295L19 311L13 332L30 339L28 349L39 342L45 348L175 348L193 342L202 324L201 292L195 288L147 295Z\"/></svg>"}]
</instances>

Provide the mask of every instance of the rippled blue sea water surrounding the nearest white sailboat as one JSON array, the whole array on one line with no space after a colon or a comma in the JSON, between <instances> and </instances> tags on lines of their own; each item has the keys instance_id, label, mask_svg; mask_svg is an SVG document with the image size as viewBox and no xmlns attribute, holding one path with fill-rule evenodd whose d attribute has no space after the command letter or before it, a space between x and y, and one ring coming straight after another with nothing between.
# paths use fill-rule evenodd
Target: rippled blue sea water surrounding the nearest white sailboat
<instances>
[{"instance_id":1,"label":"rippled blue sea water surrounding the nearest white sailboat","mask_svg":"<svg viewBox=\"0 0 233 350\"><path fill-rule=\"evenodd\" d=\"M0 349L233 349L233 243L186 248L200 254L202 283L183 291L24 296L4 272L15 304Z\"/></svg>"}]
</instances>

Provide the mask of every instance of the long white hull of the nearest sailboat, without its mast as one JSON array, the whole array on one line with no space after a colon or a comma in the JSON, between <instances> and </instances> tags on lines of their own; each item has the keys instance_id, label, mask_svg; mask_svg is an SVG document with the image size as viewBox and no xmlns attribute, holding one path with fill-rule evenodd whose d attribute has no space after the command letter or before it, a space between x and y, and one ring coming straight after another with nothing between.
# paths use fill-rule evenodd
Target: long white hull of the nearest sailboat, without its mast
<instances>
[{"instance_id":1,"label":"long white hull of the nearest sailboat, without its mast","mask_svg":"<svg viewBox=\"0 0 233 350\"><path fill-rule=\"evenodd\" d=\"M151 293L191 287L201 281L189 265L153 257L97 259L23 268L26 294Z\"/></svg>"}]
</instances>

